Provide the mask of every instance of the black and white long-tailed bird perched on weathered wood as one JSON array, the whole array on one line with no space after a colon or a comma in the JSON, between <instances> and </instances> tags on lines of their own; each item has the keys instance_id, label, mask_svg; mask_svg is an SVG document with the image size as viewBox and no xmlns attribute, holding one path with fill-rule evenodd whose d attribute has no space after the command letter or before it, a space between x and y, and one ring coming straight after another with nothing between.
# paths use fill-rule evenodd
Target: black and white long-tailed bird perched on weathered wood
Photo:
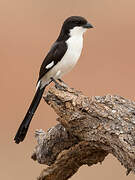
<instances>
[{"instance_id":1,"label":"black and white long-tailed bird perched on weathered wood","mask_svg":"<svg viewBox=\"0 0 135 180\"><path fill-rule=\"evenodd\" d=\"M41 64L35 96L14 137L16 144L24 140L45 88L51 82L58 85L57 80L62 81L61 77L76 65L83 48L83 34L90 28L93 26L82 16L70 16L64 21L58 38Z\"/></svg>"}]
</instances>

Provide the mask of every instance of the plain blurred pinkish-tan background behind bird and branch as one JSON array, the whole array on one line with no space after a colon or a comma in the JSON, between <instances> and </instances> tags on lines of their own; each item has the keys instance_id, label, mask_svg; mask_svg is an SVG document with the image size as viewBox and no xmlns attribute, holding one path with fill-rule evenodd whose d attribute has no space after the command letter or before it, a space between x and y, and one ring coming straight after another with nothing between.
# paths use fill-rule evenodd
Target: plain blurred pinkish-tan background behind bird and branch
<instances>
[{"instance_id":1,"label":"plain blurred pinkish-tan background behind bird and branch","mask_svg":"<svg viewBox=\"0 0 135 180\"><path fill-rule=\"evenodd\" d=\"M0 179L36 179L45 167L30 157L35 129L56 125L56 114L44 101L27 138L14 135L33 98L40 65L56 40L65 18L81 15L95 27L87 31L79 63L64 77L87 96L117 94L134 100L134 0L0 0ZM72 180L133 180L115 157L102 165L83 166Z\"/></svg>"}]
</instances>

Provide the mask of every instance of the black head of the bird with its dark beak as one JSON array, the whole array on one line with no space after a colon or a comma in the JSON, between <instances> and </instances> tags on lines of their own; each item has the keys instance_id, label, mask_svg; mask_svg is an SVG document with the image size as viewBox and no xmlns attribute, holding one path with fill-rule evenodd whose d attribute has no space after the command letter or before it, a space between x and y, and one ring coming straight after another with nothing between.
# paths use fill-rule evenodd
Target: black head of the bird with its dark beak
<instances>
[{"instance_id":1,"label":"black head of the bird with its dark beak","mask_svg":"<svg viewBox=\"0 0 135 180\"><path fill-rule=\"evenodd\" d=\"M86 29L93 28L93 26L90 23L88 23L88 21L84 17L81 16L68 17L62 25L61 33L60 36L58 37L58 40L68 39L68 37L70 37L70 32L76 27L80 27L80 29L84 29L84 32L86 31Z\"/></svg>"}]
</instances>

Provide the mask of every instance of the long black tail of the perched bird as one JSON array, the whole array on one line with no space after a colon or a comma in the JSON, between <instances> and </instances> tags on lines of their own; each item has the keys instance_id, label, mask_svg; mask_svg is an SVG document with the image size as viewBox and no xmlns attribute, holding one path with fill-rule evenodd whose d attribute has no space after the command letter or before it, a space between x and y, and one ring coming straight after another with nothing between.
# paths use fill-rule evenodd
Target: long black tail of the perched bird
<instances>
[{"instance_id":1,"label":"long black tail of the perched bird","mask_svg":"<svg viewBox=\"0 0 135 180\"><path fill-rule=\"evenodd\" d=\"M38 87L37 91L36 91L36 94L33 98L33 101L27 111L27 114L25 115L24 117L24 120L22 121L17 133L16 133L16 136L14 138L15 140L15 143L19 144L21 141L24 140L26 134L27 134L27 131L28 131L28 128L29 128L29 125L30 125L30 122L32 120L32 117L40 103L40 100L42 98L42 95L43 95L43 92L44 92L44 88L40 89L40 86Z\"/></svg>"}]
</instances>

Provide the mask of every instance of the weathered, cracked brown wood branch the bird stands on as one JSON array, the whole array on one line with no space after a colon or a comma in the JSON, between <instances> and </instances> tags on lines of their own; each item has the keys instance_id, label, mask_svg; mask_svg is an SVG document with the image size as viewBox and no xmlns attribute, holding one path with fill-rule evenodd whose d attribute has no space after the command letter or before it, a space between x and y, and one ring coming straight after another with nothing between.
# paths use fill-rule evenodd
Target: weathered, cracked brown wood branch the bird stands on
<instances>
[{"instance_id":1,"label":"weathered, cracked brown wood branch the bird stands on","mask_svg":"<svg viewBox=\"0 0 135 180\"><path fill-rule=\"evenodd\" d=\"M120 96L86 97L69 87L50 88L45 101L60 124L37 131L32 158L49 165L39 180L66 180L80 166L102 162L111 153L135 173L135 102Z\"/></svg>"}]
</instances>

